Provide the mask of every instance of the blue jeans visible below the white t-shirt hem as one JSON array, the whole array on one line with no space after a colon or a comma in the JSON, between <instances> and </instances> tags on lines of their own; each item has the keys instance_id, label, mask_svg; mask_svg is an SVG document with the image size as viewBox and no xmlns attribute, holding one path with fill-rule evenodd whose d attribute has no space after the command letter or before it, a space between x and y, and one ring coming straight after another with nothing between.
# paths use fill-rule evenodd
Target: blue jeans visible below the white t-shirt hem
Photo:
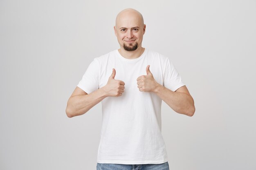
<instances>
[{"instance_id":1,"label":"blue jeans visible below the white t-shirt hem","mask_svg":"<svg viewBox=\"0 0 256 170\"><path fill-rule=\"evenodd\" d=\"M169 170L168 161L160 164L116 164L97 163L97 170Z\"/></svg>"}]
</instances>

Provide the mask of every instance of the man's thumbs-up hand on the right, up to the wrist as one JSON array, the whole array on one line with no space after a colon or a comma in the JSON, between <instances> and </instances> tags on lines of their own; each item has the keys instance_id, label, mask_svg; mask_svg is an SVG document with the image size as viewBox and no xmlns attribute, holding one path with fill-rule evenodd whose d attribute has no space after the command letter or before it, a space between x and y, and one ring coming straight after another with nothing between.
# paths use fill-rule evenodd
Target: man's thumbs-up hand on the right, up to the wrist
<instances>
[{"instance_id":1,"label":"man's thumbs-up hand on the right, up to the wrist","mask_svg":"<svg viewBox=\"0 0 256 170\"><path fill-rule=\"evenodd\" d=\"M154 77L153 74L150 72L148 65L146 67L146 73L147 75L141 75L137 78L137 84L139 91L144 91L144 92L155 92L156 87L159 85Z\"/></svg>"}]
</instances>

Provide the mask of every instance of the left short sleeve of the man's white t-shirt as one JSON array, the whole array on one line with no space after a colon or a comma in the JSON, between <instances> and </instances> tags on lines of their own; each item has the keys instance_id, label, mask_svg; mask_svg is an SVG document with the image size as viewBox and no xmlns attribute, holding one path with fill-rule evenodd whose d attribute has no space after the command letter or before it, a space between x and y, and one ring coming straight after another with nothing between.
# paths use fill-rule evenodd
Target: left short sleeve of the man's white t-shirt
<instances>
[{"instance_id":1,"label":"left short sleeve of the man's white t-shirt","mask_svg":"<svg viewBox=\"0 0 256 170\"><path fill-rule=\"evenodd\" d=\"M99 88L99 62L94 58L77 85L87 94Z\"/></svg>"}]
</instances>

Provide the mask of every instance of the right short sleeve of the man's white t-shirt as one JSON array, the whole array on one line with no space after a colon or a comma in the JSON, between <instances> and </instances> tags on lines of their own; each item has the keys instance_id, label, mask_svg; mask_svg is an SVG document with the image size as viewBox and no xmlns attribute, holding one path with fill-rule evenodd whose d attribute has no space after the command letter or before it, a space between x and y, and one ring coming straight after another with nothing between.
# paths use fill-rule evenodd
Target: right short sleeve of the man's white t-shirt
<instances>
[{"instance_id":1,"label":"right short sleeve of the man's white t-shirt","mask_svg":"<svg viewBox=\"0 0 256 170\"><path fill-rule=\"evenodd\" d=\"M171 91L176 91L181 86L185 86L182 79L174 67L173 63L167 59L166 68L164 72L164 87L170 89Z\"/></svg>"}]
</instances>

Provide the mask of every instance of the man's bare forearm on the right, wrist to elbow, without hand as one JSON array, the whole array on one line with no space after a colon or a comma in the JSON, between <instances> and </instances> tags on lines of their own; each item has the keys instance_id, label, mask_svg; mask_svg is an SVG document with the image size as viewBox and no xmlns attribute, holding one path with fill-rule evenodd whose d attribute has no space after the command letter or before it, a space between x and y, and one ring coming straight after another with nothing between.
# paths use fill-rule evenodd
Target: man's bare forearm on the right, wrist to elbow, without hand
<instances>
[{"instance_id":1,"label":"man's bare forearm on the right, wrist to elbow, without hand","mask_svg":"<svg viewBox=\"0 0 256 170\"><path fill-rule=\"evenodd\" d=\"M187 116L193 116L195 113L194 100L190 95L173 92L160 84L155 89L155 93L175 112Z\"/></svg>"}]
</instances>

